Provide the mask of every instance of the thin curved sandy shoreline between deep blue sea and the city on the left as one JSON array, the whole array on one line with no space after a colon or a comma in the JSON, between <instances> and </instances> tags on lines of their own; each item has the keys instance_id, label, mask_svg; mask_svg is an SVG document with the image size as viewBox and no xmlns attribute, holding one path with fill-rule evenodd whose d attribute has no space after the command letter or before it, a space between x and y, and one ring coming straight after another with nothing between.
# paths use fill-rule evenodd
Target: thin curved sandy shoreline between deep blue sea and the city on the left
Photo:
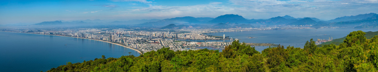
<instances>
[{"instance_id":1,"label":"thin curved sandy shoreline between deep blue sea and the city on the left","mask_svg":"<svg viewBox=\"0 0 378 72\"><path fill-rule=\"evenodd\" d=\"M9 32L9 31L1 31L1 32ZM13 32L13 33L23 33L23 32ZM23 34L33 34L33 33L23 33ZM48 34L38 34L38 35L48 35ZM63 35L52 35L52 36L70 37L70 36L63 36ZM81 37L73 37L73 38L81 38ZM83 38L83 39L95 40L95 39L90 39L90 38ZM102 42L111 43L111 44L115 44L115 45L118 45L118 46L122 46L122 47L130 48L130 49L132 49L132 50L137 51L139 54L143 54L141 51L136 50L135 48L131 48L131 47L127 47L127 46L123 46L123 45L121 45L121 44L112 43L112 42L109 42L109 41L103 41L103 40L96 40L96 41L102 41Z\"/></svg>"}]
</instances>

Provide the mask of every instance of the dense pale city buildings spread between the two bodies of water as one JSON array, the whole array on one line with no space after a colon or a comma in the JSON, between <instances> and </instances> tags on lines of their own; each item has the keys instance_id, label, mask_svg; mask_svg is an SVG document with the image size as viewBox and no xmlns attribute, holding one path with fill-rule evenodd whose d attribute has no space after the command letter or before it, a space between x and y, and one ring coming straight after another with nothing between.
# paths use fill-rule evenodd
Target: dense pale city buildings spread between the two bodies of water
<instances>
[{"instance_id":1,"label":"dense pale city buildings spread between the two bodies of water","mask_svg":"<svg viewBox=\"0 0 378 72\"><path fill-rule=\"evenodd\" d=\"M59 35L68 37L89 38L101 41L121 44L128 48L148 52L156 51L163 47L170 47L172 50L198 50L212 48L222 50L230 45L233 38L227 35L212 37L205 35L211 32L229 31L250 31L250 30L271 30L271 29L303 29L309 27L266 27L266 28L231 28L231 29L110 29L110 28L78 28L78 29L3 29L1 31L22 32L32 34ZM211 42L195 42L182 40L219 40ZM223 41L222 41L223 40ZM224 42L229 40L230 42Z\"/></svg>"}]
</instances>

